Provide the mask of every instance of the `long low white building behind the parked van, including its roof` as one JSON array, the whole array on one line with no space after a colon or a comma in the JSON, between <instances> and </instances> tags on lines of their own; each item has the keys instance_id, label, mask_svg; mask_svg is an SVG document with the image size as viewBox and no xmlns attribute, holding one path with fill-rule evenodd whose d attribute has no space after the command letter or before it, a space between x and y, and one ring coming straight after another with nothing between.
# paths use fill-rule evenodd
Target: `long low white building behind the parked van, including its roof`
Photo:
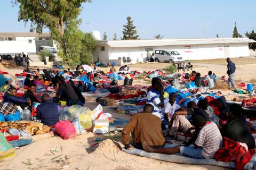
<instances>
[{"instance_id":1,"label":"long low white building behind the parked van, including its roof","mask_svg":"<svg viewBox=\"0 0 256 170\"><path fill-rule=\"evenodd\" d=\"M100 41L93 52L93 60L122 64L120 57L130 57L131 63L145 62L147 51L153 53L156 49L176 50L184 60L245 57L250 56L249 43L255 42L249 38Z\"/></svg>"}]
</instances>

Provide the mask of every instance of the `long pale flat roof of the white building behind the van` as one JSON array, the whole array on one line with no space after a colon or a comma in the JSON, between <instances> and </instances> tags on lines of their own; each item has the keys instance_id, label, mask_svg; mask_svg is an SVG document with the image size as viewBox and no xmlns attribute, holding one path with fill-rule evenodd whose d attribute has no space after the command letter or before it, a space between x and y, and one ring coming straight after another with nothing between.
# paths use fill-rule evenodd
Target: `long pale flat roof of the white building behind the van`
<instances>
[{"instance_id":1,"label":"long pale flat roof of the white building behind the van","mask_svg":"<svg viewBox=\"0 0 256 170\"><path fill-rule=\"evenodd\" d=\"M110 40L100 41L98 45L110 47L148 47L170 45L198 45L198 44L232 44L255 43L249 38L207 38L207 39L154 39L154 40Z\"/></svg>"}]
</instances>

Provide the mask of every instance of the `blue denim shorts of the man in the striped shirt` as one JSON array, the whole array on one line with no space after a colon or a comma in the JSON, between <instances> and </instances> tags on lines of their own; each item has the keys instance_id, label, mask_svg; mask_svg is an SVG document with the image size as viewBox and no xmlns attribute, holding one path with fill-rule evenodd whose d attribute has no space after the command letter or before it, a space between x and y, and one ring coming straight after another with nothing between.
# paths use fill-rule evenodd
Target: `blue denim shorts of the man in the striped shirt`
<instances>
[{"instance_id":1,"label":"blue denim shorts of the man in the striped shirt","mask_svg":"<svg viewBox=\"0 0 256 170\"><path fill-rule=\"evenodd\" d=\"M205 159L205 157L202 155L203 148L197 148L195 149L193 145L190 145L189 147L181 146L180 147L180 154L183 156L187 156L190 158L195 159Z\"/></svg>"}]
</instances>

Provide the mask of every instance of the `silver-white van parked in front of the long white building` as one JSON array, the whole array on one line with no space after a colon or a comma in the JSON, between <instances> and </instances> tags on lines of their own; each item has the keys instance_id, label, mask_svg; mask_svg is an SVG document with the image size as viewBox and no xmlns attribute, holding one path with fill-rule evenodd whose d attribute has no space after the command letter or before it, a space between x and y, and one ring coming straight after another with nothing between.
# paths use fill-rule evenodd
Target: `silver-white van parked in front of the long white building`
<instances>
[{"instance_id":1,"label":"silver-white van parked in front of the long white building","mask_svg":"<svg viewBox=\"0 0 256 170\"><path fill-rule=\"evenodd\" d=\"M153 59L155 62L179 63L183 62L183 57L174 50L157 49L154 52Z\"/></svg>"}]
</instances>

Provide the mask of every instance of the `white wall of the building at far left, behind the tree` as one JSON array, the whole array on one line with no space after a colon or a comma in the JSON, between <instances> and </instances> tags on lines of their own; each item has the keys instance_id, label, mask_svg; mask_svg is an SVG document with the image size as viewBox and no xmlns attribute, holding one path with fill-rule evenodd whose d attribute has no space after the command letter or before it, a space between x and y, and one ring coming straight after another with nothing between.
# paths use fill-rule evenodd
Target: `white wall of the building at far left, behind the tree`
<instances>
[{"instance_id":1,"label":"white wall of the building at far left, behind the tree","mask_svg":"<svg viewBox=\"0 0 256 170\"><path fill-rule=\"evenodd\" d=\"M35 37L16 37L15 41L0 41L0 47L0 54L36 54Z\"/></svg>"}]
</instances>

